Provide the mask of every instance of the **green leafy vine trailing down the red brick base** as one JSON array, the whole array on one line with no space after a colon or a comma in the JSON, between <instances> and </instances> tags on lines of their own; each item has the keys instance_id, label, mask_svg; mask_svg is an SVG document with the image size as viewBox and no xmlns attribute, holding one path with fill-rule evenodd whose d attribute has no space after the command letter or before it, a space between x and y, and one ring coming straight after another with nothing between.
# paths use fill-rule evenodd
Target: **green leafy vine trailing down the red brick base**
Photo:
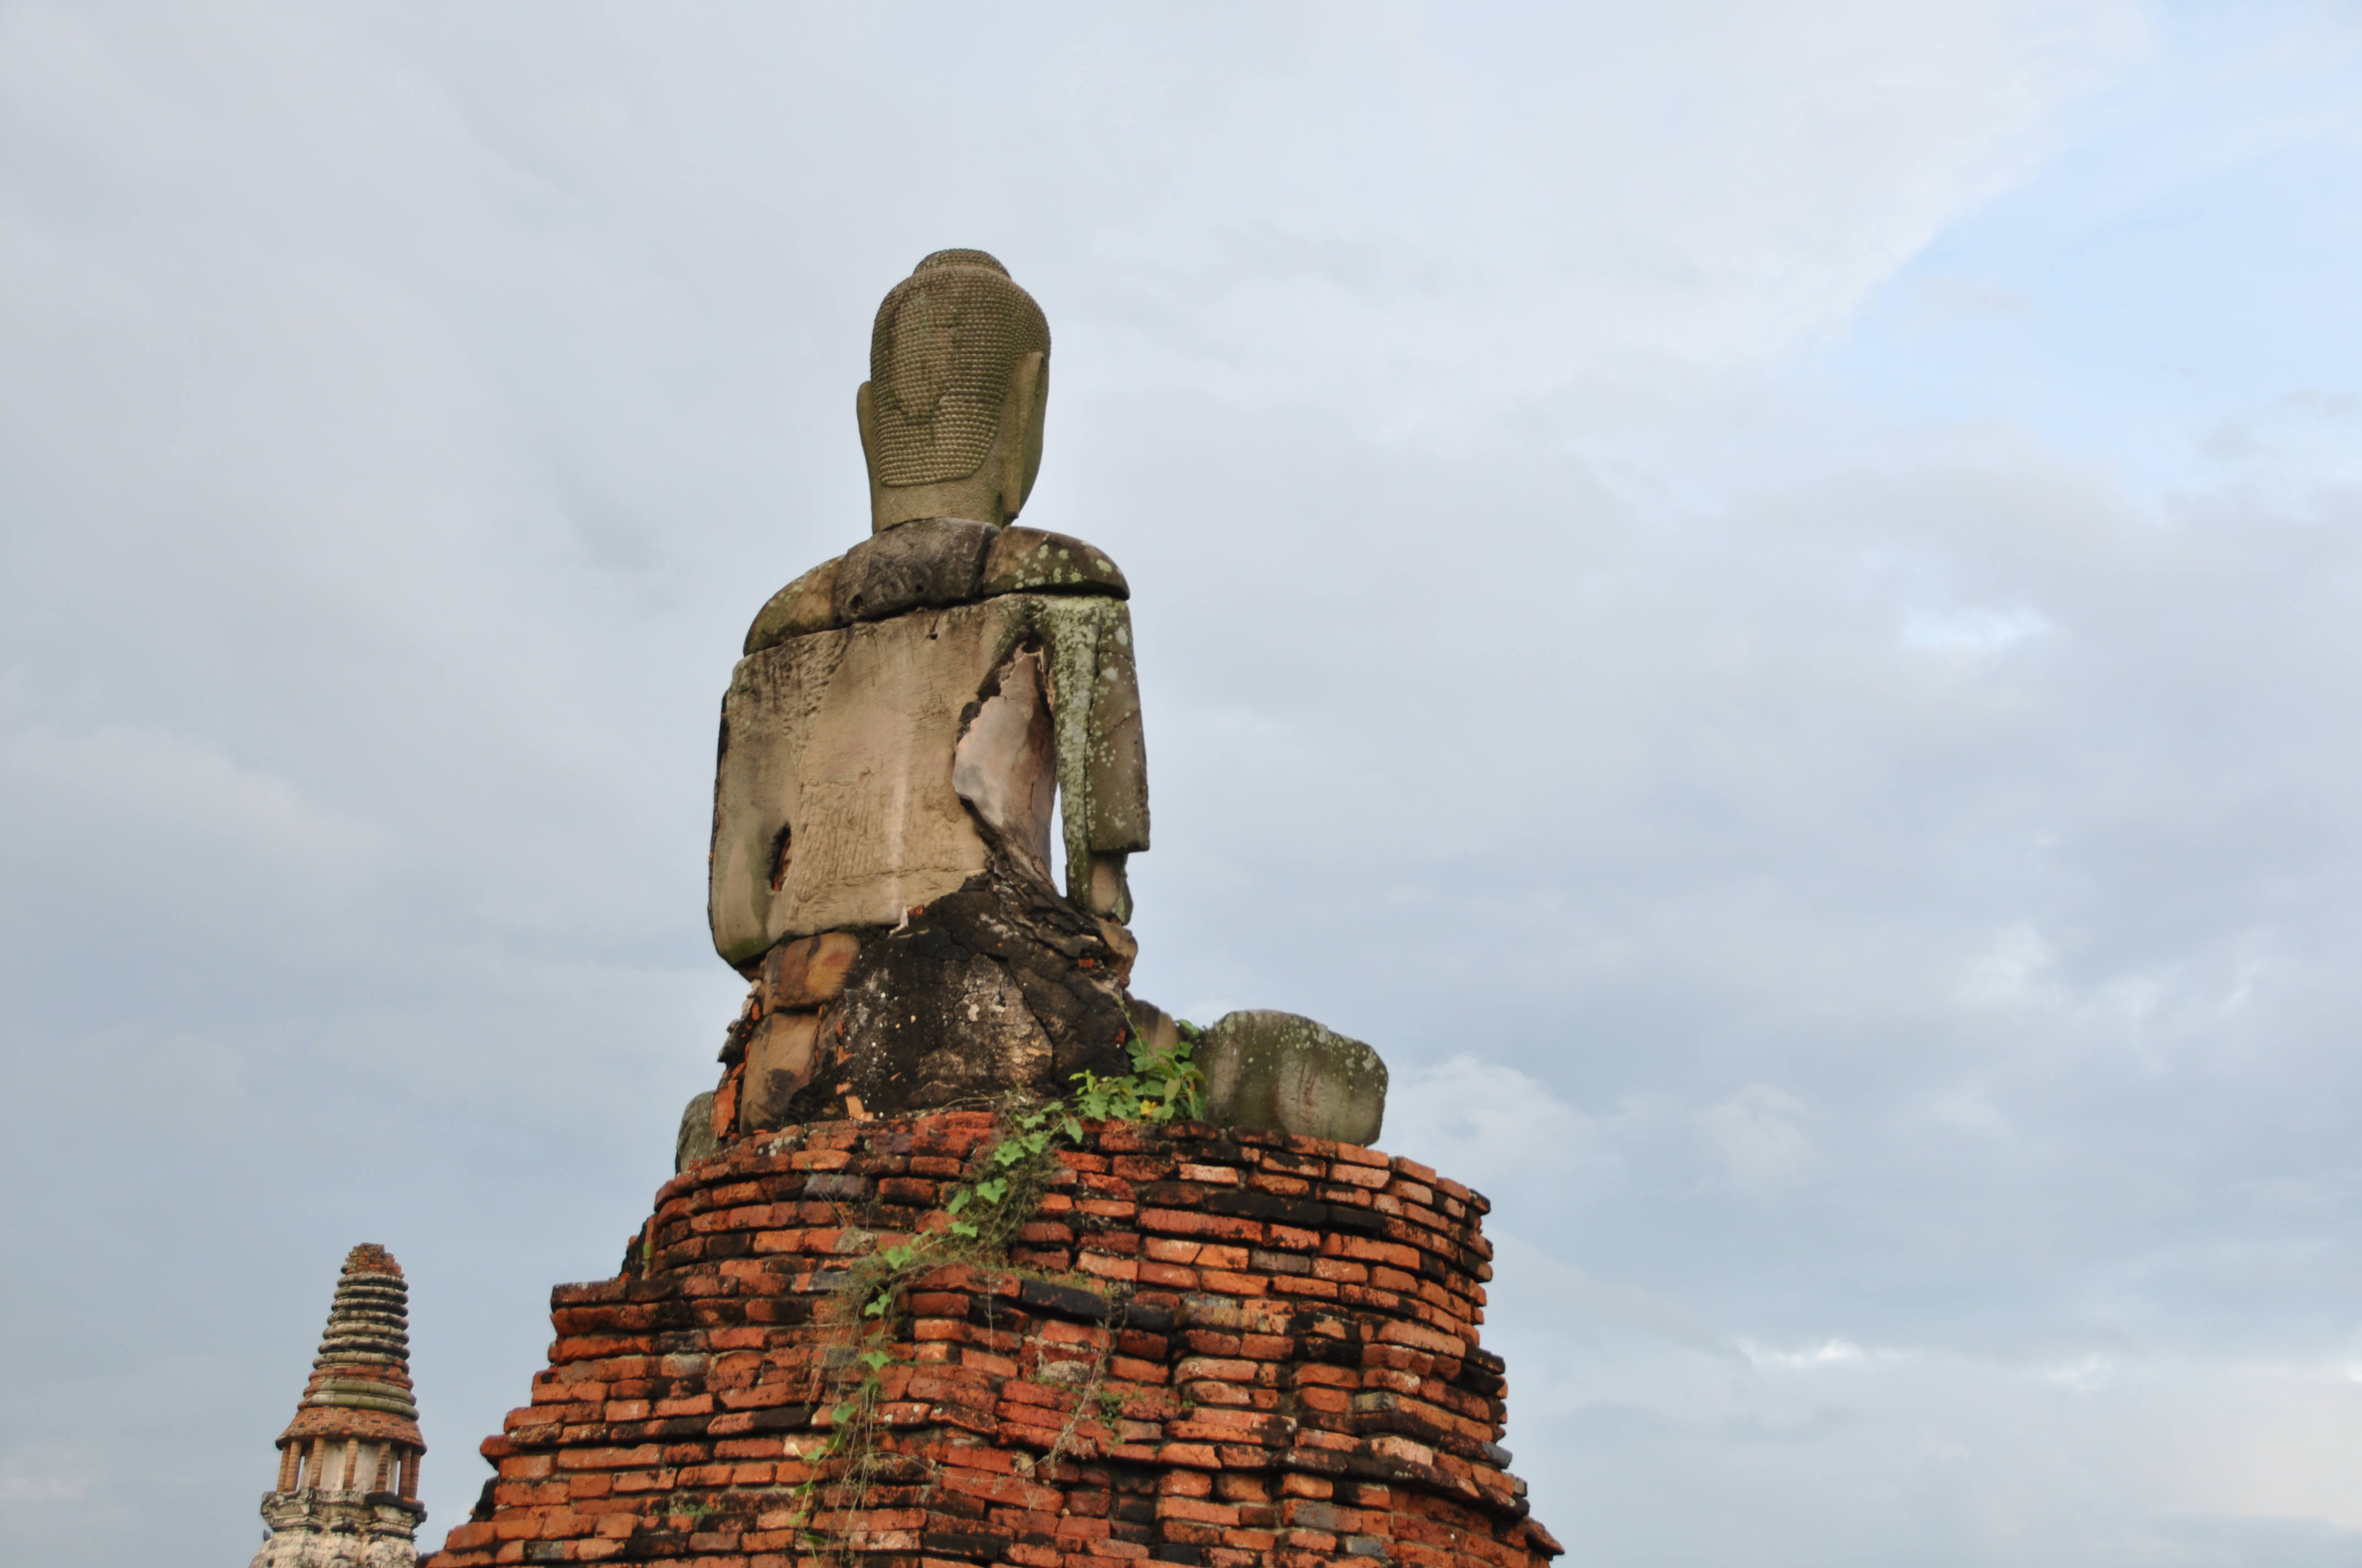
<instances>
[{"instance_id":1,"label":"green leafy vine trailing down the red brick base","mask_svg":"<svg viewBox=\"0 0 2362 1568\"><path fill-rule=\"evenodd\" d=\"M1127 1018L1129 1025L1129 1018ZM836 1287L836 1315L846 1322L843 1346L827 1353L839 1372L839 1400L829 1407L827 1440L805 1455L810 1474L796 1488L796 1530L810 1551L850 1561L857 1521L869 1509L879 1481L881 1436L886 1422L886 1367L893 1365L893 1341L900 1327L902 1292L928 1270L947 1263L1009 1268L1009 1249L1025 1223L1039 1211L1042 1197L1058 1178L1058 1138L1079 1145L1084 1122L1148 1122L1162 1126L1205 1115L1205 1072L1190 1060L1202 1032L1181 1023L1172 1051L1155 1051L1138 1030L1129 1032L1131 1072L1098 1077L1077 1072L1077 1089L1058 1100L1018 1100L1001 1110L999 1138L980 1155L978 1176L957 1185L942 1209L945 1230L926 1230L864 1254ZM1091 1282L1087 1289L1101 1289ZM1035 1471L1049 1471L1075 1440L1075 1429L1096 1415L1113 1422L1122 1398L1101 1389L1108 1372L1105 1348L1094 1355L1075 1389L1072 1410ZM824 1492L834 1490L843 1525L834 1533L815 1528Z\"/></svg>"}]
</instances>

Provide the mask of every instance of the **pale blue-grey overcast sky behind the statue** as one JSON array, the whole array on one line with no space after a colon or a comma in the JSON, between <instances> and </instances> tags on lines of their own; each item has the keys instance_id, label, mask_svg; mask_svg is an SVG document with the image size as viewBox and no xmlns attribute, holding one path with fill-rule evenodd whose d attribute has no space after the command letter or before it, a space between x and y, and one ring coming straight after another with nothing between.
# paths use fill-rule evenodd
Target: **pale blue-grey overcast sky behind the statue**
<instances>
[{"instance_id":1,"label":"pale blue-grey overcast sky behind the statue","mask_svg":"<svg viewBox=\"0 0 2362 1568\"><path fill-rule=\"evenodd\" d=\"M2350 0L0 5L0 1559L243 1561L364 1240L465 1516L945 246L1568 1563L2362 1563Z\"/></svg>"}]
</instances>

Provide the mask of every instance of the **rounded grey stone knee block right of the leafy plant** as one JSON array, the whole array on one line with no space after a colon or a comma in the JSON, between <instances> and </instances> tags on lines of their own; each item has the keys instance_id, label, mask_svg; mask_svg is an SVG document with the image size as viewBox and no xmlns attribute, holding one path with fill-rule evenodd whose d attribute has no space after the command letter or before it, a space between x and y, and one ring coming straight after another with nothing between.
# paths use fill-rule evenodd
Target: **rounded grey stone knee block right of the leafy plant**
<instances>
[{"instance_id":1,"label":"rounded grey stone knee block right of the leafy plant","mask_svg":"<svg viewBox=\"0 0 2362 1568\"><path fill-rule=\"evenodd\" d=\"M1294 1013L1228 1013L1198 1046L1207 1119L1299 1138L1375 1143L1386 1119L1377 1051Z\"/></svg>"}]
</instances>

